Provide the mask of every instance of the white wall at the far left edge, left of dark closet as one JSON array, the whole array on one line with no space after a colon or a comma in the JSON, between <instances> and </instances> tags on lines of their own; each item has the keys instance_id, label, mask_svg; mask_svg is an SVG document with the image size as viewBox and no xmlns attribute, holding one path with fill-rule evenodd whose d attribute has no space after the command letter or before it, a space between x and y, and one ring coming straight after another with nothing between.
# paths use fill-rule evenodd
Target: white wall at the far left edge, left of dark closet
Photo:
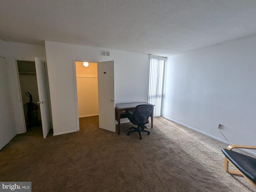
<instances>
[{"instance_id":1,"label":"white wall at the far left edge, left of dark closet","mask_svg":"<svg viewBox=\"0 0 256 192\"><path fill-rule=\"evenodd\" d=\"M0 149L17 134L4 44L0 39Z\"/></svg>"}]
</instances>

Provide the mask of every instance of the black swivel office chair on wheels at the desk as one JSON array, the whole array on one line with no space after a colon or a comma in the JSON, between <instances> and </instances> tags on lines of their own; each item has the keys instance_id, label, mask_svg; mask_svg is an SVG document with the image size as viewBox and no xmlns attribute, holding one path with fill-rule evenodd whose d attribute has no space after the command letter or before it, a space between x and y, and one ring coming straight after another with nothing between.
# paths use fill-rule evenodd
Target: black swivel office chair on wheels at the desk
<instances>
[{"instance_id":1,"label":"black swivel office chair on wheels at the desk","mask_svg":"<svg viewBox=\"0 0 256 192\"><path fill-rule=\"evenodd\" d=\"M145 128L148 129L145 124L148 123L148 118L152 112L153 105L138 105L135 108L134 113L131 111L128 111L129 117L128 119L130 122L134 125L138 125L138 127L131 127L130 129L134 129L132 131L129 131L127 135L130 135L130 133L138 131L139 134L140 132L147 132L148 135L150 135L149 131L144 130ZM140 139L142 139L141 134L140 134Z\"/></svg>"}]
</instances>

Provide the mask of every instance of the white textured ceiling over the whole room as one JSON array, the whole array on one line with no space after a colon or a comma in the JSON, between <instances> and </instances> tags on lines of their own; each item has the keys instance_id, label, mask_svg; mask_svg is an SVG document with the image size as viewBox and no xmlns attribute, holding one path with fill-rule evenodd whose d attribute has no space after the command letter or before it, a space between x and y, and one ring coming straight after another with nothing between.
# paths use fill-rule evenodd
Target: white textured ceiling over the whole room
<instances>
[{"instance_id":1,"label":"white textured ceiling over the whole room","mask_svg":"<svg viewBox=\"0 0 256 192\"><path fill-rule=\"evenodd\" d=\"M256 0L0 0L0 39L170 56L256 34Z\"/></svg>"}]
</instances>

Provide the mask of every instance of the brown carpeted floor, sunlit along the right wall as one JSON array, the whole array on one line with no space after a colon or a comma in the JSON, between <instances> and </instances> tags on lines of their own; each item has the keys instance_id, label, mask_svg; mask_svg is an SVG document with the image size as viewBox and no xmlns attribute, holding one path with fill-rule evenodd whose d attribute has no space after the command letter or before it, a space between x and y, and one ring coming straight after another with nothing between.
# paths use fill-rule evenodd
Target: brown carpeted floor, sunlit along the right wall
<instances>
[{"instance_id":1,"label":"brown carpeted floor, sunlit along the right wall","mask_svg":"<svg viewBox=\"0 0 256 192\"><path fill-rule=\"evenodd\" d=\"M118 135L100 129L98 116L80 118L80 131L46 139L33 127L0 151L0 181L31 181L36 192L255 191L225 171L225 143L162 117L142 140L126 135L130 126Z\"/></svg>"}]
</instances>

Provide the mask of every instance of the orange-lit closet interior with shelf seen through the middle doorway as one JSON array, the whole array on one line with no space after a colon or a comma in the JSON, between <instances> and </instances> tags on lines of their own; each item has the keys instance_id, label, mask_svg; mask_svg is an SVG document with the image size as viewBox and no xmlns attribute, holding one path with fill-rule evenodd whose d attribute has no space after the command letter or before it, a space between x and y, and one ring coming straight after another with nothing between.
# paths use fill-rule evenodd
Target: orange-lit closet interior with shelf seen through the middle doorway
<instances>
[{"instance_id":1,"label":"orange-lit closet interior with shelf seen through the middle doorway","mask_svg":"<svg viewBox=\"0 0 256 192\"><path fill-rule=\"evenodd\" d=\"M76 61L76 86L79 118L98 116L97 63ZM84 64L85 63L85 64Z\"/></svg>"}]
</instances>

